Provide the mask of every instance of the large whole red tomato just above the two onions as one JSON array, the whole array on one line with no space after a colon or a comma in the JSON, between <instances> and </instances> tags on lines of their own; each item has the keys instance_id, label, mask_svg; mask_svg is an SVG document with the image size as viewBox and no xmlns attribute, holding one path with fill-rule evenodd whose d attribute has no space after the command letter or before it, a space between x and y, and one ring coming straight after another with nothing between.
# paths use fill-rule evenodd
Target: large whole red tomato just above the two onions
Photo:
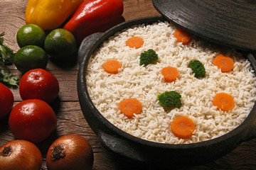
<instances>
[{"instance_id":1,"label":"large whole red tomato just above the two onions","mask_svg":"<svg viewBox=\"0 0 256 170\"><path fill-rule=\"evenodd\" d=\"M33 143L46 140L56 125L53 109L39 99L21 101L14 106L9 116L9 128L14 137Z\"/></svg>"}]
</instances>

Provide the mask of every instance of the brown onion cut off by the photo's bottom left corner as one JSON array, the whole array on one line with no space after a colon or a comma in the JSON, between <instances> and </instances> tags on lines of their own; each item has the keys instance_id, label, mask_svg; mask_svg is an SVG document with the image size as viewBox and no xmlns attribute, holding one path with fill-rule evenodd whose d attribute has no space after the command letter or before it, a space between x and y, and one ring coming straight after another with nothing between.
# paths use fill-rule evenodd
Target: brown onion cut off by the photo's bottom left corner
<instances>
[{"instance_id":1,"label":"brown onion cut off by the photo's bottom left corner","mask_svg":"<svg viewBox=\"0 0 256 170\"><path fill-rule=\"evenodd\" d=\"M42 162L38 147L26 140L14 140L0 147L0 169L37 170Z\"/></svg>"}]
</instances>

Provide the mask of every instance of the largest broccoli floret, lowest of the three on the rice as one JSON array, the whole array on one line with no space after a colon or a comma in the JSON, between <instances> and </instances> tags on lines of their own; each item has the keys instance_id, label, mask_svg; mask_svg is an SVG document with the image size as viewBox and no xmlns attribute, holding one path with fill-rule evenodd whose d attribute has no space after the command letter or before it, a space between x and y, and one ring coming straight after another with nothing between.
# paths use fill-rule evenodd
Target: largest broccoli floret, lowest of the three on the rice
<instances>
[{"instance_id":1,"label":"largest broccoli floret, lowest of the three on the rice","mask_svg":"<svg viewBox=\"0 0 256 170\"><path fill-rule=\"evenodd\" d=\"M159 104L161 106L167 106L172 108L181 107L181 94L176 91L166 91L163 94L157 96L159 99Z\"/></svg>"}]
</instances>

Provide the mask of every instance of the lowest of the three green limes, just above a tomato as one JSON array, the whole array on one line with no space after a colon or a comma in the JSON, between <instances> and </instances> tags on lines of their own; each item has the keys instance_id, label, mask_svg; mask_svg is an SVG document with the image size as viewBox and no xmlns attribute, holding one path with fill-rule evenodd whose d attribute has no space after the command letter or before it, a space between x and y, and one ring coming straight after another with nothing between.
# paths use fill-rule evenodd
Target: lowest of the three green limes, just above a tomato
<instances>
[{"instance_id":1,"label":"lowest of the three green limes, just above a tomato","mask_svg":"<svg viewBox=\"0 0 256 170\"><path fill-rule=\"evenodd\" d=\"M30 69L46 69L47 62L46 52L36 45L26 45L14 55L14 65L22 73Z\"/></svg>"}]
</instances>

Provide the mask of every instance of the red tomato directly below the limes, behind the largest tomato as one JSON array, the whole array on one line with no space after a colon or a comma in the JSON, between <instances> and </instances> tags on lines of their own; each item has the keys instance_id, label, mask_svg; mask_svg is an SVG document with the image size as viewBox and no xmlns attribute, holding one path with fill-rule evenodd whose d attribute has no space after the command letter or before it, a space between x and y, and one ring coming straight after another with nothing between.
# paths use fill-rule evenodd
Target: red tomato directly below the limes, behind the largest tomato
<instances>
[{"instance_id":1,"label":"red tomato directly below the limes, behind the largest tomato","mask_svg":"<svg viewBox=\"0 0 256 170\"><path fill-rule=\"evenodd\" d=\"M58 80L46 69L31 69L23 74L19 84L23 100L38 98L52 103L60 92Z\"/></svg>"}]
</instances>

